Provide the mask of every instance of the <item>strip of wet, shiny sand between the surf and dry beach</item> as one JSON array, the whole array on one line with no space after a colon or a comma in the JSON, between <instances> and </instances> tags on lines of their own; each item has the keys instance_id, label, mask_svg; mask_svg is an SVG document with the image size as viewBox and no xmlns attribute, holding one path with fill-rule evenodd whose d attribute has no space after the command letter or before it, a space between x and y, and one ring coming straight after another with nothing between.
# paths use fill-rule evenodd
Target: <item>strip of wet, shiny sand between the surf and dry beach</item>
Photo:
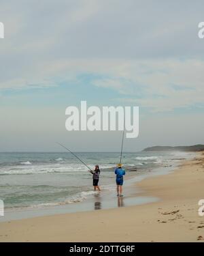
<instances>
[{"instance_id":1,"label":"strip of wet, shiny sand between the surf and dry beach","mask_svg":"<svg viewBox=\"0 0 204 256\"><path fill-rule=\"evenodd\" d=\"M34 207L34 208L11 208L5 209L5 216L0 218L0 223L4 223L7 221L16 221L23 220L27 218L35 218L39 216L52 216L56 214L68 214L75 212L91 212L93 210L105 210L105 209L113 209L118 207L128 207L133 205L142 205L146 203L152 203L154 201L158 201L157 197L152 197L149 195L141 195L139 187L137 184L141 182L141 180L145 180L149 177L154 177L157 175L167 175L174 171L178 162L172 163L169 166L160 166L154 167L151 171L146 171L145 173L137 173L137 175L132 177L126 177L125 179L125 188L124 193L125 196L118 200L116 198L116 185L115 182L111 186L113 186L112 190L103 190L101 193L93 193L89 195L89 197L85 198L82 201L76 201L73 203L58 203L56 205L48 205L42 207ZM139 175L138 175L139 174ZM114 192L113 192L114 191ZM86 192L85 192L86 193Z\"/></svg>"}]
</instances>

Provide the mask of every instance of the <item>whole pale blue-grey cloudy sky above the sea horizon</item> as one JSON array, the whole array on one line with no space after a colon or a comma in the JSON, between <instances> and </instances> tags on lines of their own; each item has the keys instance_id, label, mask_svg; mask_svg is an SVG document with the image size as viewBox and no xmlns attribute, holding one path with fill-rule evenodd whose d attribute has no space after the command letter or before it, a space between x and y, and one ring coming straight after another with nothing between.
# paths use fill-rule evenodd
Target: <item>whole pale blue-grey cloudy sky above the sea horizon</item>
<instances>
[{"instance_id":1,"label":"whole pale blue-grey cloudy sky above the sea horizon","mask_svg":"<svg viewBox=\"0 0 204 256\"><path fill-rule=\"evenodd\" d=\"M204 144L203 1L0 0L0 152L120 151L65 129L65 109L139 106L124 150Z\"/></svg>"}]
</instances>

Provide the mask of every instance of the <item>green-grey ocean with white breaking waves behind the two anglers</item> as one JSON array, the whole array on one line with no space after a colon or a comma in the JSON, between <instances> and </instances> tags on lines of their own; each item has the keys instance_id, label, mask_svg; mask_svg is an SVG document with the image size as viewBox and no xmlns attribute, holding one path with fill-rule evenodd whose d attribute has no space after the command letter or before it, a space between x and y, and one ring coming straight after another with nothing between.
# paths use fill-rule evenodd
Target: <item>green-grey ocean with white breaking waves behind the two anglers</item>
<instances>
[{"instance_id":1,"label":"green-grey ocean with white breaking waves behind the two anglers","mask_svg":"<svg viewBox=\"0 0 204 256\"><path fill-rule=\"evenodd\" d=\"M100 182L107 195L115 195L114 169L120 161L117 152L75 153L90 168L101 169ZM125 183L152 175L154 170L177 165L192 157L184 152L125 152ZM68 152L0 153L0 199L5 210L48 208L69 205L93 197L92 175ZM73 207L73 206L72 206Z\"/></svg>"}]
</instances>

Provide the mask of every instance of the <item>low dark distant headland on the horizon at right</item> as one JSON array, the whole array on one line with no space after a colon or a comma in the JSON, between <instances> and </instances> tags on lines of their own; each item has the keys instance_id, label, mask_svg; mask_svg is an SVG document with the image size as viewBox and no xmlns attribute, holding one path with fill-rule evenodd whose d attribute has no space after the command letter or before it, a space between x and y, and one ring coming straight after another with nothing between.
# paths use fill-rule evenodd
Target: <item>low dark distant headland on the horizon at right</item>
<instances>
[{"instance_id":1,"label":"low dark distant headland on the horizon at right","mask_svg":"<svg viewBox=\"0 0 204 256\"><path fill-rule=\"evenodd\" d=\"M192 146L177 146L177 147L169 147L169 146L154 146L154 147L146 147L143 151L183 151L183 152L198 152L203 151L204 145L192 145Z\"/></svg>"}]
</instances>

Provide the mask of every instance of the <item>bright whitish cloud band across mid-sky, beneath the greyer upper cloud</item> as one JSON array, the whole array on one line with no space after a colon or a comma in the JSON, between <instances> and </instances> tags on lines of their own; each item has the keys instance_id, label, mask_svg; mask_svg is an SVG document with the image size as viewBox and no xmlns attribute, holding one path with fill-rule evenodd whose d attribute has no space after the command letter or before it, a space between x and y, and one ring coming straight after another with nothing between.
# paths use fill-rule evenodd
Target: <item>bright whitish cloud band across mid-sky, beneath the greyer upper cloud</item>
<instances>
[{"instance_id":1,"label":"bright whitish cloud band across mid-sky, beneath the greyer upper cloud","mask_svg":"<svg viewBox=\"0 0 204 256\"><path fill-rule=\"evenodd\" d=\"M1 89L59 87L61 81L76 85L82 74L92 74L90 83L116 91L122 96L116 99L118 102L138 104L151 111L203 107L204 61L196 59L78 59L41 63L36 68L36 74L28 73L25 80L0 83Z\"/></svg>"}]
</instances>

